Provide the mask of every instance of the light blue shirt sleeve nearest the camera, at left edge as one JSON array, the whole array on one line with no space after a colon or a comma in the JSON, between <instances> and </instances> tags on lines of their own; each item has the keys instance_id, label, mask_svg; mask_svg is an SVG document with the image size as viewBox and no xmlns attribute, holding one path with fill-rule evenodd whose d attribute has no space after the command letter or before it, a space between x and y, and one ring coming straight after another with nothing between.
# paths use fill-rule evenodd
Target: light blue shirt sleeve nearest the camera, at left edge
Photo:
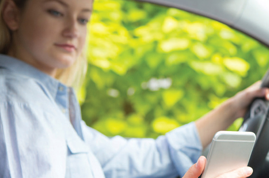
<instances>
[{"instance_id":1,"label":"light blue shirt sleeve nearest the camera, at left edge","mask_svg":"<svg viewBox=\"0 0 269 178\"><path fill-rule=\"evenodd\" d=\"M0 102L0 177L64 177L65 137L49 118L39 107Z\"/></svg>"}]
</instances>

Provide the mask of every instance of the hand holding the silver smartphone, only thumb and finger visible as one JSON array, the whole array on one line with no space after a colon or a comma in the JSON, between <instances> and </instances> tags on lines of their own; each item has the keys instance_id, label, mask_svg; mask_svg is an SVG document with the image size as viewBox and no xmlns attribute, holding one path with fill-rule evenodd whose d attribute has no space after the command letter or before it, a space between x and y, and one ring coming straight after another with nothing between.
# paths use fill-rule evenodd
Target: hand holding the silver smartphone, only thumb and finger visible
<instances>
[{"instance_id":1,"label":"hand holding the silver smartphone, only thumb and finger visible","mask_svg":"<svg viewBox=\"0 0 269 178\"><path fill-rule=\"evenodd\" d=\"M198 161L190 167L182 178L198 178L206 165L206 157L201 156ZM250 167L235 169L232 172L224 173L216 178L246 178L252 174L253 170Z\"/></svg>"}]
</instances>

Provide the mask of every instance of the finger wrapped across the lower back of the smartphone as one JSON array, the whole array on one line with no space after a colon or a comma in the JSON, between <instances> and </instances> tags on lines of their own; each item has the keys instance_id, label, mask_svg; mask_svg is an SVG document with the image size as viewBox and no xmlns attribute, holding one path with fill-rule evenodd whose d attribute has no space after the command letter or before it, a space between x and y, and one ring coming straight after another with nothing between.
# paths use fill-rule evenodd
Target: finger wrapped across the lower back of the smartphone
<instances>
[{"instance_id":1,"label":"finger wrapped across the lower back of the smartphone","mask_svg":"<svg viewBox=\"0 0 269 178\"><path fill-rule=\"evenodd\" d=\"M218 176L217 178L246 178L252 175L253 169L250 167L243 167L232 172L228 172Z\"/></svg>"}]
</instances>

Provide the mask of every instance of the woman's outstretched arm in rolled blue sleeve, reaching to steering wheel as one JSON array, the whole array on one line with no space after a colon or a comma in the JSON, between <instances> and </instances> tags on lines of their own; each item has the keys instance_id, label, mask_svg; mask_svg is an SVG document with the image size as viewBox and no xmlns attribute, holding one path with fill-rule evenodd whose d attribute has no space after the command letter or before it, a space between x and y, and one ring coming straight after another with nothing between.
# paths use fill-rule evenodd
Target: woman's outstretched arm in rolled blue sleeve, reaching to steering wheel
<instances>
[{"instance_id":1,"label":"woman's outstretched arm in rolled blue sleeve, reaching to steering wheel","mask_svg":"<svg viewBox=\"0 0 269 178\"><path fill-rule=\"evenodd\" d=\"M269 89L257 89L258 85L238 93L195 123L176 128L156 140L108 138L82 121L83 136L99 160L105 177L175 177L178 174L182 177L201 154L200 140L206 146L215 132L225 130L236 118L243 116L244 111L239 108L247 108L254 97L269 93Z\"/></svg>"}]
</instances>

